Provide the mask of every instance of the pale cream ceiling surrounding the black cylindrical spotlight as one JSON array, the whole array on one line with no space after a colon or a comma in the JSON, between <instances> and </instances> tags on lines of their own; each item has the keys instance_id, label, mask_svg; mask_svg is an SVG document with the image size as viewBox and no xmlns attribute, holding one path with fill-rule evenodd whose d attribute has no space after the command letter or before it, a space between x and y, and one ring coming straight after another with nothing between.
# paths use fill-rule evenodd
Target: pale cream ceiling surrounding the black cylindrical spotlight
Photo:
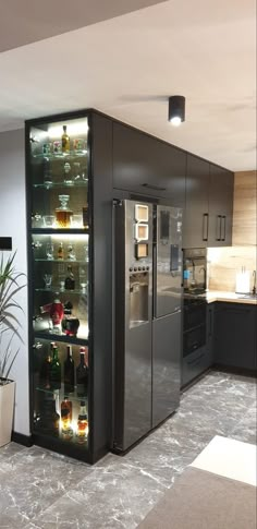
<instances>
[{"instance_id":1,"label":"pale cream ceiling surrounding the black cylindrical spotlight","mask_svg":"<svg viewBox=\"0 0 257 529\"><path fill-rule=\"evenodd\" d=\"M0 55L0 130L97 108L232 170L256 168L255 0L170 0ZM186 97L172 128L168 97Z\"/></svg>"}]
</instances>

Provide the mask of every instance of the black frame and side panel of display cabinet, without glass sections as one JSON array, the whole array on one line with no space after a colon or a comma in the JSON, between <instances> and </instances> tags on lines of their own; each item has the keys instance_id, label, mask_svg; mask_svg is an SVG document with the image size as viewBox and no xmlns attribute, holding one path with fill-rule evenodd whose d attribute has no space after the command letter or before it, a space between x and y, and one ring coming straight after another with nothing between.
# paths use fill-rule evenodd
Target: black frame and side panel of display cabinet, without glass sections
<instances>
[{"instance_id":1,"label":"black frame and side panel of display cabinet, without glass sections","mask_svg":"<svg viewBox=\"0 0 257 529\"><path fill-rule=\"evenodd\" d=\"M88 194L89 199L89 336L88 339L66 338L40 334L40 338L57 341L88 345L89 348L89 395L88 418L90 433L88 448L48 437L34 431L33 410L33 346L38 338L33 328L33 249L32 236L44 233L63 233L63 230L30 228L32 179L29 130L42 123L65 122L73 119L88 120ZM47 116L25 122L26 155L26 201L27 201L27 260L28 260L28 342L29 342L29 408L33 442L46 448L65 454L86 462L94 464L110 447L111 440L111 354L112 354L112 121L93 109ZM82 233L79 229L69 229L69 235ZM105 254L105 261L101 256Z\"/></svg>"}]
</instances>

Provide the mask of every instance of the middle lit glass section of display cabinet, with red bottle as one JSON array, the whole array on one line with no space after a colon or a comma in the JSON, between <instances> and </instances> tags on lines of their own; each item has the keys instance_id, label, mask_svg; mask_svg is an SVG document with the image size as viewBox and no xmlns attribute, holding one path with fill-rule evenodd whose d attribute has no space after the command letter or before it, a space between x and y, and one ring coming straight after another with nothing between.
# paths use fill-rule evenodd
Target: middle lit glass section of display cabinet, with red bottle
<instances>
[{"instance_id":1,"label":"middle lit glass section of display cabinet, with red bottle","mask_svg":"<svg viewBox=\"0 0 257 529\"><path fill-rule=\"evenodd\" d=\"M89 236L32 237L35 333L87 339Z\"/></svg>"}]
</instances>

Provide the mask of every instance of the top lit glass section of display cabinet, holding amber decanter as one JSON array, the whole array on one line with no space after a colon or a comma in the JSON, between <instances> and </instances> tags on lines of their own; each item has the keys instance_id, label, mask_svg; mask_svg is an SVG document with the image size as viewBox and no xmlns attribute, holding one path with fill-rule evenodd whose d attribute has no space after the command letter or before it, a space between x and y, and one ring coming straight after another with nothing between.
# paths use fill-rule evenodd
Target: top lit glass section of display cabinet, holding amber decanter
<instances>
[{"instance_id":1,"label":"top lit glass section of display cabinet, holding amber decanter","mask_svg":"<svg viewBox=\"0 0 257 529\"><path fill-rule=\"evenodd\" d=\"M88 228L87 119L30 129L32 228Z\"/></svg>"}]
</instances>

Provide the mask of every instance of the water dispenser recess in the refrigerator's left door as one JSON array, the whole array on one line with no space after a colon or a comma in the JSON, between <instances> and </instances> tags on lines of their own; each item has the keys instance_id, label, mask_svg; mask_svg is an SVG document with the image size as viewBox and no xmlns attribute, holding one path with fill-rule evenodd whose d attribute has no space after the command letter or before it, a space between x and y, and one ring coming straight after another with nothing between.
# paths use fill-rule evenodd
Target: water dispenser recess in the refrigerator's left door
<instances>
[{"instance_id":1,"label":"water dispenser recess in the refrigerator's left door","mask_svg":"<svg viewBox=\"0 0 257 529\"><path fill-rule=\"evenodd\" d=\"M130 328L149 321L149 275L147 272L130 276Z\"/></svg>"}]
</instances>

